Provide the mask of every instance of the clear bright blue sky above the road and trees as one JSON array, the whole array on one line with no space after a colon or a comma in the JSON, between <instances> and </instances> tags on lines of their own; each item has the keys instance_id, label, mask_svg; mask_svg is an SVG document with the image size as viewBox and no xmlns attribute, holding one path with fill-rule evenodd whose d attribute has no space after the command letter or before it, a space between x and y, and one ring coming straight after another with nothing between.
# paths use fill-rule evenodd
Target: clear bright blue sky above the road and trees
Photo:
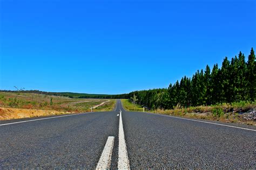
<instances>
[{"instance_id":1,"label":"clear bright blue sky above the road and trees","mask_svg":"<svg viewBox=\"0 0 256 170\"><path fill-rule=\"evenodd\" d=\"M0 89L162 88L256 47L254 0L0 0L0 8Z\"/></svg>"}]
</instances>

